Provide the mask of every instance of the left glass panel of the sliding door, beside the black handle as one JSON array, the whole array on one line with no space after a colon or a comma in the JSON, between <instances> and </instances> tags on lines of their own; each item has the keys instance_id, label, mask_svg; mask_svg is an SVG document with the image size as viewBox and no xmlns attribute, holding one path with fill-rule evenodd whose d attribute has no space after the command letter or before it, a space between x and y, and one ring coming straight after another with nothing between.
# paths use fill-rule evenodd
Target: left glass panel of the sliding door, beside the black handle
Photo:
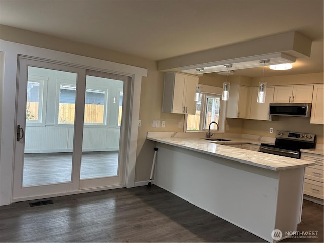
<instances>
[{"instance_id":1,"label":"left glass panel of the sliding door, beside the black handle","mask_svg":"<svg viewBox=\"0 0 324 243\"><path fill-rule=\"evenodd\" d=\"M76 73L28 67L23 187L72 180L76 80Z\"/></svg>"}]
</instances>

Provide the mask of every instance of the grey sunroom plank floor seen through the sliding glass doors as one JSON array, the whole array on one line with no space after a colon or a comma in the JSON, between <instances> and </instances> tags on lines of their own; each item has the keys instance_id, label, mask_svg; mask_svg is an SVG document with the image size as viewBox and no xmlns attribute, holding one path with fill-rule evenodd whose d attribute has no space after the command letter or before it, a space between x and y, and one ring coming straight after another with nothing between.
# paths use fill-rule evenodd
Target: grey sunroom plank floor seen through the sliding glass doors
<instances>
[{"instance_id":1,"label":"grey sunroom plank floor seen through the sliding glass doors","mask_svg":"<svg viewBox=\"0 0 324 243\"><path fill-rule=\"evenodd\" d=\"M24 155L23 186L71 181L72 153ZM80 179L118 174L118 151L83 152Z\"/></svg>"}]
</instances>

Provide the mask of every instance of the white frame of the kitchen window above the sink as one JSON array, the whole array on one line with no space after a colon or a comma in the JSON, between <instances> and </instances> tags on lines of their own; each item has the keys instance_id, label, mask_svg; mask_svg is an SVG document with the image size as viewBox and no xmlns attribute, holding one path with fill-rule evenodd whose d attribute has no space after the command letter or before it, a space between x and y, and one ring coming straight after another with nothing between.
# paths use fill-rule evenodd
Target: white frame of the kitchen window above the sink
<instances>
[{"instance_id":1,"label":"white frame of the kitchen window above the sink","mask_svg":"<svg viewBox=\"0 0 324 243\"><path fill-rule=\"evenodd\" d=\"M209 85L199 85L200 92L202 93L203 97L201 98L201 112L200 112L200 124L199 130L187 130L187 117L185 115L185 132L206 132L207 129L204 129L205 124L205 117L206 117L206 102L207 96L221 96L222 95L222 88L209 86ZM213 133L224 133L225 132L225 119L226 119L226 106L227 101L222 101L219 107L219 130L211 130Z\"/></svg>"}]
</instances>

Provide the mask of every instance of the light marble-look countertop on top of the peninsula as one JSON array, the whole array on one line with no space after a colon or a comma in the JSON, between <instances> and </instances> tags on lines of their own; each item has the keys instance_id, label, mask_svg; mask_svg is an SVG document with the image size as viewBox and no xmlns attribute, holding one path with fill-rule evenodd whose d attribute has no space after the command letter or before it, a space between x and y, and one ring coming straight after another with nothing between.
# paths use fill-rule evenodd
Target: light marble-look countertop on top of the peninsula
<instances>
[{"instance_id":1,"label":"light marble-look countertop on top of the peninsula","mask_svg":"<svg viewBox=\"0 0 324 243\"><path fill-rule=\"evenodd\" d=\"M279 171L294 169L306 166L315 165L310 161L283 157L273 154L260 153L256 151L240 149L225 146L223 144L235 144L235 143L253 143L249 139L235 139L230 138L231 141L210 142L203 138L183 138L183 137L170 137L170 136L158 136L152 134L147 135L148 140L164 143L176 147L189 149L192 151L213 155L216 157L222 157L231 159L240 163L257 166L269 170ZM255 144L260 144L261 141L254 141Z\"/></svg>"}]
</instances>

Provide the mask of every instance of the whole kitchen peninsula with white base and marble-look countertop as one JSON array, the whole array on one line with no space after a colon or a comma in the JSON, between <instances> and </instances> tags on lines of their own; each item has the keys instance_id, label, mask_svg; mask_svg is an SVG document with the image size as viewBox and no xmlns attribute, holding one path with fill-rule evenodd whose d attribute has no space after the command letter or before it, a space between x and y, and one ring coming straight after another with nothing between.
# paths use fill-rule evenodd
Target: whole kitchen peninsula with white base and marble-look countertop
<instances>
[{"instance_id":1,"label":"whole kitchen peninsula with white base and marble-look countertop","mask_svg":"<svg viewBox=\"0 0 324 243\"><path fill-rule=\"evenodd\" d=\"M199 138L147 139L157 142L157 186L269 242L297 230L305 167L314 163Z\"/></svg>"}]
</instances>

